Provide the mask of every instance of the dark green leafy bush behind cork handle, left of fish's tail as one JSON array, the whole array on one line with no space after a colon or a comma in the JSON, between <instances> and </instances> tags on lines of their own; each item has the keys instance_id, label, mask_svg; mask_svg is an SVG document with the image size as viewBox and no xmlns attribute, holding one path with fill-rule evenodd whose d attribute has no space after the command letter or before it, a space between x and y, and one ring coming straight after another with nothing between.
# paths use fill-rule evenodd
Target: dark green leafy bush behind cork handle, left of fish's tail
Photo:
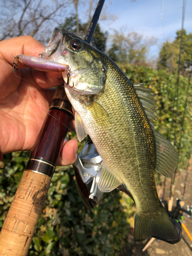
<instances>
[{"instance_id":1,"label":"dark green leafy bush behind cork handle, left of fish's tail","mask_svg":"<svg viewBox=\"0 0 192 256\"><path fill-rule=\"evenodd\" d=\"M24 156L29 153L7 154L1 162L1 227L27 163ZM129 205L124 202L122 206L120 201L122 193L114 191L105 193L97 208L86 208L72 166L57 168L28 255L118 255L128 245L130 229ZM132 208L130 212L133 216Z\"/></svg>"}]
</instances>

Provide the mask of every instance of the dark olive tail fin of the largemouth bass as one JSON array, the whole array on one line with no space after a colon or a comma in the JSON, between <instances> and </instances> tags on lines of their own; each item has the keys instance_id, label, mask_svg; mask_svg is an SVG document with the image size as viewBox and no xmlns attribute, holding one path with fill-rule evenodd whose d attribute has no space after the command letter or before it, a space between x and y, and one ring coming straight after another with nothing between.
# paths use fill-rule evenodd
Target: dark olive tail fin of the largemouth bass
<instances>
[{"instance_id":1,"label":"dark olive tail fin of the largemouth bass","mask_svg":"<svg viewBox=\"0 0 192 256\"><path fill-rule=\"evenodd\" d=\"M171 221L166 210L162 206L160 211L149 212L144 216L135 215L134 239L140 244L147 238L154 237L170 244L181 240L181 226L177 221Z\"/></svg>"}]
</instances>

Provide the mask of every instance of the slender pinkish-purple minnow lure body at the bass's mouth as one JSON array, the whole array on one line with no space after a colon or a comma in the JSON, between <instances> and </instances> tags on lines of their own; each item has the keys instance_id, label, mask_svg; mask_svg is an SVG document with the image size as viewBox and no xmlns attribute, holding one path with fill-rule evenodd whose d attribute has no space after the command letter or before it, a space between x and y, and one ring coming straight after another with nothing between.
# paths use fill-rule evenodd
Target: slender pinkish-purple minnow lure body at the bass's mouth
<instances>
[{"instance_id":1,"label":"slender pinkish-purple minnow lure body at the bass's mouth","mask_svg":"<svg viewBox=\"0 0 192 256\"><path fill-rule=\"evenodd\" d=\"M14 56L18 62L22 63L23 65L45 72L70 72L69 65L65 65L62 63L58 63L52 60L47 60L42 57L35 57L31 55L19 54Z\"/></svg>"}]
</instances>

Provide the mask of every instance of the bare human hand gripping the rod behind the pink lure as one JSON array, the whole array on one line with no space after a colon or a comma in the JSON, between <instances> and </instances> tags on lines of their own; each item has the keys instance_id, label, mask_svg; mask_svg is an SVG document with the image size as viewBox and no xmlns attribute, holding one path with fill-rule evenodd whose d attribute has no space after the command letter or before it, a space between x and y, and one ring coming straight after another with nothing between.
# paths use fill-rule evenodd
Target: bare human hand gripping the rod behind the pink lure
<instances>
[{"instance_id":1,"label":"bare human hand gripping the rod behind the pink lure","mask_svg":"<svg viewBox=\"0 0 192 256\"><path fill-rule=\"evenodd\" d=\"M43 48L44 45L31 36L0 42L0 160L2 154L32 150L47 115L44 110L49 110L53 99L55 90L50 88L61 84L61 73L32 70L20 63L15 76L13 56L28 54L38 57ZM76 140L63 145L57 165L73 163L77 148Z\"/></svg>"}]
</instances>

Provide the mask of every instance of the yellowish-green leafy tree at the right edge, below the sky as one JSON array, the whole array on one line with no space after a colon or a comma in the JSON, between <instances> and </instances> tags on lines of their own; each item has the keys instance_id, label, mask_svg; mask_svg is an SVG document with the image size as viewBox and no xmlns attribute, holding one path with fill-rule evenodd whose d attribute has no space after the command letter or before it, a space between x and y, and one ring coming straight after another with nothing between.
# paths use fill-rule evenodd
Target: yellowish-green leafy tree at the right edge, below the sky
<instances>
[{"instance_id":1,"label":"yellowish-green leafy tree at the right edge, below the sky","mask_svg":"<svg viewBox=\"0 0 192 256\"><path fill-rule=\"evenodd\" d=\"M166 41L161 48L159 53L158 68L167 68L169 72L174 73L178 68L179 61L179 51L181 45L181 59L180 67L182 73L188 65L192 65L192 34L186 34L186 30L183 30L182 40L181 40L181 30L176 32L177 36L175 40L171 43Z\"/></svg>"}]
</instances>

